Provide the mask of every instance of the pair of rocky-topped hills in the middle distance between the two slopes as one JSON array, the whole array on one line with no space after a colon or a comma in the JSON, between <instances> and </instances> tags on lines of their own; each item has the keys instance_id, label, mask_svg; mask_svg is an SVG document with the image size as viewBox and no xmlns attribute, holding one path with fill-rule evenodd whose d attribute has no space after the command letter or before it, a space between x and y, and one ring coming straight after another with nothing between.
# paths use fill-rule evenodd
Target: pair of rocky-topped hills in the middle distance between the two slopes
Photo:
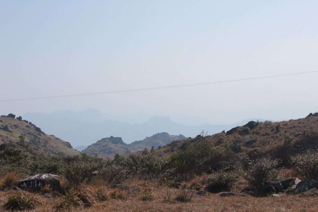
<instances>
[{"instance_id":1,"label":"pair of rocky-topped hills in the middle distance between the two slopes","mask_svg":"<svg viewBox=\"0 0 318 212\"><path fill-rule=\"evenodd\" d=\"M129 154L133 152L142 151L144 148L151 147L158 148L171 143L174 140L186 139L183 135L169 135L168 133L157 133L150 137L146 137L144 140L135 141L130 144L126 144L120 137L110 136L109 138L102 138L96 143L89 145L82 152L100 157L108 157L113 159L114 152L118 154Z\"/></svg>"}]
</instances>

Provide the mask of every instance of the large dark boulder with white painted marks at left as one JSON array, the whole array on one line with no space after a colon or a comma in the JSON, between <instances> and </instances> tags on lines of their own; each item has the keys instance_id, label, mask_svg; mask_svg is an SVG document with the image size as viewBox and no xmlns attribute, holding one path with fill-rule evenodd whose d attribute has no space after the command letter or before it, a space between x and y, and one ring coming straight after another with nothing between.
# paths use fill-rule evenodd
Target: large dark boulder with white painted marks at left
<instances>
[{"instance_id":1,"label":"large dark boulder with white painted marks at left","mask_svg":"<svg viewBox=\"0 0 318 212\"><path fill-rule=\"evenodd\" d=\"M53 174L37 174L34 176L27 177L20 180L17 183L17 187L28 190L28 189L42 189L45 185L49 184L52 190L61 190L59 182L59 176Z\"/></svg>"}]
</instances>

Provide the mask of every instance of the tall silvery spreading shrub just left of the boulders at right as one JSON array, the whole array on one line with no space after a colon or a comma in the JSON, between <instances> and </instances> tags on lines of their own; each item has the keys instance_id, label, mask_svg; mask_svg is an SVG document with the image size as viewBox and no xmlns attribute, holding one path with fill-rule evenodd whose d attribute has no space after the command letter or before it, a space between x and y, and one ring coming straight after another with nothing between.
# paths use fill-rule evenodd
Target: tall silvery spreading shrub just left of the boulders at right
<instances>
[{"instance_id":1,"label":"tall silvery spreading shrub just left of the boulders at right","mask_svg":"<svg viewBox=\"0 0 318 212\"><path fill-rule=\"evenodd\" d=\"M281 171L278 169L279 164L280 160L272 159L269 156L250 161L243 177L252 186L259 189L263 188L266 181L278 177L278 174Z\"/></svg>"}]
</instances>

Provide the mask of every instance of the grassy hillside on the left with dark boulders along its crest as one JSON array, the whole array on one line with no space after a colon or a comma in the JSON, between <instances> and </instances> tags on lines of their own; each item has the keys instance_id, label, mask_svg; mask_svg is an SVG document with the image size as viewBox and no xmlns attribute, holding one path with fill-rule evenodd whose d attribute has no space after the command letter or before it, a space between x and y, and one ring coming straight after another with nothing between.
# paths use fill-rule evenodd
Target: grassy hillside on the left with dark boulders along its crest
<instances>
[{"instance_id":1,"label":"grassy hillside on the left with dark boulders along its crest","mask_svg":"<svg viewBox=\"0 0 318 212\"><path fill-rule=\"evenodd\" d=\"M11 115L12 116L12 115ZM0 117L0 144L18 143L19 136L25 137L25 143L40 153L48 155L76 155L78 151L74 150L70 143L65 142L54 135L47 135L42 130L28 122L16 118L1 116Z\"/></svg>"}]
</instances>

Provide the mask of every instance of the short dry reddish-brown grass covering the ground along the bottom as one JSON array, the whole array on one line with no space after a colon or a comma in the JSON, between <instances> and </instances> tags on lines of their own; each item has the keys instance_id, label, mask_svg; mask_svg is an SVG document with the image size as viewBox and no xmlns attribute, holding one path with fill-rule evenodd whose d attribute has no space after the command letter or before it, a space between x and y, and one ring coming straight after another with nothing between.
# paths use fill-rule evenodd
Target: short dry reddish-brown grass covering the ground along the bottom
<instances>
[{"instance_id":1,"label":"short dry reddish-brown grass covering the ground along the bottom","mask_svg":"<svg viewBox=\"0 0 318 212\"><path fill-rule=\"evenodd\" d=\"M237 187L239 187L239 184ZM244 186L244 185L243 185ZM235 186L234 186L235 187ZM105 187L110 192L112 189ZM239 190L239 188L234 188ZM173 188L154 188L154 199L142 201L136 195L128 195L127 199L108 199L104 202L96 202L91 207L80 209L69 209L67 211L318 211L318 198L316 196L286 195L282 197L220 197L217 194L206 194L204 196L193 195L190 202L178 202L173 200L180 189ZM167 199L167 192L170 193L170 201ZM0 192L0 211L4 211L3 204L8 195L13 191ZM58 197L47 198L44 195L36 194L43 205L31 212L55 211Z\"/></svg>"}]
</instances>

